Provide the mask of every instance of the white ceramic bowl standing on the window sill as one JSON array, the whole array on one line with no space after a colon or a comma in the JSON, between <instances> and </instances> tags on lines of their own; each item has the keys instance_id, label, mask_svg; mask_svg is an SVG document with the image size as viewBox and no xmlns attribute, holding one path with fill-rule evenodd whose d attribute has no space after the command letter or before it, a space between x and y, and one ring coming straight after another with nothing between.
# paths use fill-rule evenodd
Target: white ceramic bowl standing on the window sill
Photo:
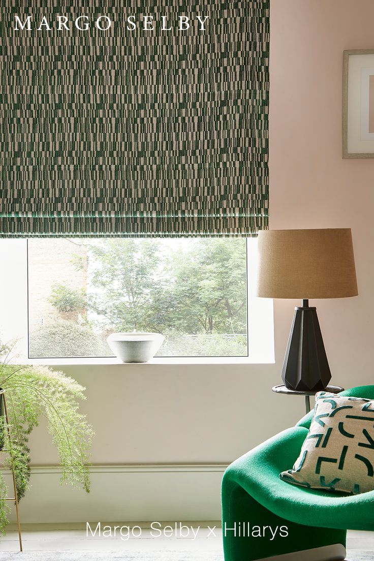
<instances>
[{"instance_id":1,"label":"white ceramic bowl standing on the window sill","mask_svg":"<svg viewBox=\"0 0 374 561\"><path fill-rule=\"evenodd\" d=\"M122 362L147 362L155 356L164 341L160 333L112 333L108 345Z\"/></svg>"}]
</instances>

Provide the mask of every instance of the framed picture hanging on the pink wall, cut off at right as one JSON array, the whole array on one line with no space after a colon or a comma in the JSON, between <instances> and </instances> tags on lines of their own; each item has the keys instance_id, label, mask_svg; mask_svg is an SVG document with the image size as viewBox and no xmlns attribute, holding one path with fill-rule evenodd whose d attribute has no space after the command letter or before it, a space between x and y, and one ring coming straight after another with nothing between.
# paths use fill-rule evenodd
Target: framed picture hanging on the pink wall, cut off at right
<instances>
[{"instance_id":1,"label":"framed picture hanging on the pink wall, cut off at right","mask_svg":"<svg viewBox=\"0 0 374 561\"><path fill-rule=\"evenodd\" d=\"M344 51L343 158L374 158L374 49Z\"/></svg>"}]
</instances>

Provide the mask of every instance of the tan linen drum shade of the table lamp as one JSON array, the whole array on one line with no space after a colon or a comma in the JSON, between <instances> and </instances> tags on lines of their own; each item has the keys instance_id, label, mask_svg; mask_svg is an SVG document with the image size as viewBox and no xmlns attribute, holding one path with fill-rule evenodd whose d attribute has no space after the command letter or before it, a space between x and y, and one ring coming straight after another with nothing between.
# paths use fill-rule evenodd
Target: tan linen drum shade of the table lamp
<instances>
[{"instance_id":1,"label":"tan linen drum shade of the table lamp","mask_svg":"<svg viewBox=\"0 0 374 561\"><path fill-rule=\"evenodd\" d=\"M357 296L350 228L263 230L258 234L257 296Z\"/></svg>"}]
</instances>

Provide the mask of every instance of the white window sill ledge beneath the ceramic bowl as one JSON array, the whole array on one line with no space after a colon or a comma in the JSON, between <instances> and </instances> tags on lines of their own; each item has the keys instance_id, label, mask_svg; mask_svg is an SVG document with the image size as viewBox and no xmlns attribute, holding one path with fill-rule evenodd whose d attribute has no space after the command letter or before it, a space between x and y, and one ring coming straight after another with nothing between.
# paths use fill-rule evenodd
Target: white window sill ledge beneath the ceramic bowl
<instances>
[{"instance_id":1,"label":"white window sill ledge beneath the ceramic bowl","mask_svg":"<svg viewBox=\"0 0 374 561\"><path fill-rule=\"evenodd\" d=\"M25 358L12 361L13 364L70 366L70 365L122 365L122 366L152 366L152 365L184 365L184 364L274 364L274 357L260 358L247 356L207 356L207 357L154 357L148 362L121 362L116 357L81 357L81 358Z\"/></svg>"}]
</instances>

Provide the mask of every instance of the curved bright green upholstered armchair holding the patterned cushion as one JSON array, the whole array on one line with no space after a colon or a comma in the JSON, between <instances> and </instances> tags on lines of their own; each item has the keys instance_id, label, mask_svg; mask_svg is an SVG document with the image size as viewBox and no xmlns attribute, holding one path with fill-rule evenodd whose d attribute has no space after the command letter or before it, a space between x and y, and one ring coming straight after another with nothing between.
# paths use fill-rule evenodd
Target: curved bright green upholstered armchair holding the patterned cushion
<instances>
[{"instance_id":1,"label":"curved bright green upholstered armchair holding the patterned cushion","mask_svg":"<svg viewBox=\"0 0 374 561\"><path fill-rule=\"evenodd\" d=\"M374 385L340 395L374 399ZM253 561L333 544L345 546L347 530L374 530L374 491L352 496L331 494L279 479L279 473L297 459L312 414L244 454L225 471L225 561Z\"/></svg>"}]
</instances>

